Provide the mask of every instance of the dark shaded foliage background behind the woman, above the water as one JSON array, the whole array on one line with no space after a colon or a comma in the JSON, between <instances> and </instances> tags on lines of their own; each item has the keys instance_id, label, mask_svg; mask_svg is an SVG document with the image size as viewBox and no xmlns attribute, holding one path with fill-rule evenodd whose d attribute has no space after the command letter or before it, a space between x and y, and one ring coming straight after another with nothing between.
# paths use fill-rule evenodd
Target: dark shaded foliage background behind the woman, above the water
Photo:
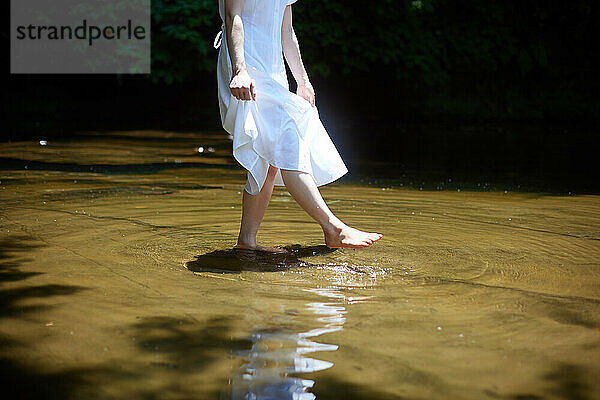
<instances>
[{"instance_id":1,"label":"dark shaded foliage background behind the woman, above the water","mask_svg":"<svg viewBox=\"0 0 600 400\"><path fill-rule=\"evenodd\" d=\"M599 191L595 2L299 0L293 10L319 113L357 174L371 160L390 179ZM216 0L153 1L150 75L7 72L2 139L219 130L220 24Z\"/></svg>"}]
</instances>

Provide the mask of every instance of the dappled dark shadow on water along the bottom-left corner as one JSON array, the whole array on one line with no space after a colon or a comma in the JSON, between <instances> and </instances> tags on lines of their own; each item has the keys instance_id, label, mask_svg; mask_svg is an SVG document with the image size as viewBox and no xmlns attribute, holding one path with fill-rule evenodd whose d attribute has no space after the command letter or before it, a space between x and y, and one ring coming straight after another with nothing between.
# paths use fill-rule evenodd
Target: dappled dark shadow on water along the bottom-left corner
<instances>
[{"instance_id":1,"label":"dappled dark shadow on water along the bottom-left corner","mask_svg":"<svg viewBox=\"0 0 600 400\"><path fill-rule=\"evenodd\" d=\"M168 398L218 399L218 389L190 382L223 354L248 347L246 340L231 338L232 323L233 318L197 321L188 316L143 317L126 328L144 355L139 359L46 372L43 366L0 357L0 371L3 381L11 382L11 399L155 400L165 398L165 393ZM227 377L222 380L221 387L227 384ZM112 391L115 387L119 388L116 397Z\"/></svg>"}]
</instances>

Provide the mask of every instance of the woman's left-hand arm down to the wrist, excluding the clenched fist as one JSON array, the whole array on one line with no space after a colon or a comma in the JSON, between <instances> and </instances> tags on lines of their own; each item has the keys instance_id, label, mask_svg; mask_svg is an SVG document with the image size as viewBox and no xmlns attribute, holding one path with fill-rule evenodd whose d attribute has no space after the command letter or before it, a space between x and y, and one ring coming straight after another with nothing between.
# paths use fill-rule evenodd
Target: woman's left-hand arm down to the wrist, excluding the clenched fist
<instances>
[{"instance_id":1,"label":"woman's left-hand arm down to the wrist, excluding the clenched fist","mask_svg":"<svg viewBox=\"0 0 600 400\"><path fill-rule=\"evenodd\" d=\"M244 60L244 0L225 0L225 36L233 75L246 69Z\"/></svg>"}]
</instances>

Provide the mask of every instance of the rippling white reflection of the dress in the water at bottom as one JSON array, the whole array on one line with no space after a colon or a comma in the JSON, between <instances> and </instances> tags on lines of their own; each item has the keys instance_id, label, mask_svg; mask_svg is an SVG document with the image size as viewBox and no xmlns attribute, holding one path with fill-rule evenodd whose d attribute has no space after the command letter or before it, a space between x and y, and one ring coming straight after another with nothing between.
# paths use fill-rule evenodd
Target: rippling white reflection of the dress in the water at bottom
<instances>
[{"instance_id":1,"label":"rippling white reflection of the dress in the water at bottom","mask_svg":"<svg viewBox=\"0 0 600 400\"><path fill-rule=\"evenodd\" d=\"M346 321L345 296L336 288L303 291L333 300L306 304L306 310L318 316L318 327L300 333L282 328L253 333L252 348L240 354L247 362L239 368L232 380L233 400L315 398L315 395L308 391L314 385L314 381L290 374L321 371L333 366L331 362L304 355L338 349L337 345L318 343L312 338L343 329Z\"/></svg>"}]
</instances>

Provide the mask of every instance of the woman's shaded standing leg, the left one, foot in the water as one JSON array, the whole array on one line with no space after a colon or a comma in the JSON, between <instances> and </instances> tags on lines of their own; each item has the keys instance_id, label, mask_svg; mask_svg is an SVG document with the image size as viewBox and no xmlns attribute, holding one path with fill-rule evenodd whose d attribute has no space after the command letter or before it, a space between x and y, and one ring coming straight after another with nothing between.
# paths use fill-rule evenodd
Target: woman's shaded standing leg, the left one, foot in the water
<instances>
[{"instance_id":1,"label":"woman's shaded standing leg, the left one, foot in the water","mask_svg":"<svg viewBox=\"0 0 600 400\"><path fill-rule=\"evenodd\" d=\"M267 179L258 194L252 195L246 190L242 197L242 222L240 224L240 234L234 248L237 249L252 249L272 252L283 252L280 249L263 247L256 244L256 234L260 223L265 216L265 211L269 205L271 194L273 193L273 183L275 182L275 174L277 168L269 165Z\"/></svg>"}]
</instances>

